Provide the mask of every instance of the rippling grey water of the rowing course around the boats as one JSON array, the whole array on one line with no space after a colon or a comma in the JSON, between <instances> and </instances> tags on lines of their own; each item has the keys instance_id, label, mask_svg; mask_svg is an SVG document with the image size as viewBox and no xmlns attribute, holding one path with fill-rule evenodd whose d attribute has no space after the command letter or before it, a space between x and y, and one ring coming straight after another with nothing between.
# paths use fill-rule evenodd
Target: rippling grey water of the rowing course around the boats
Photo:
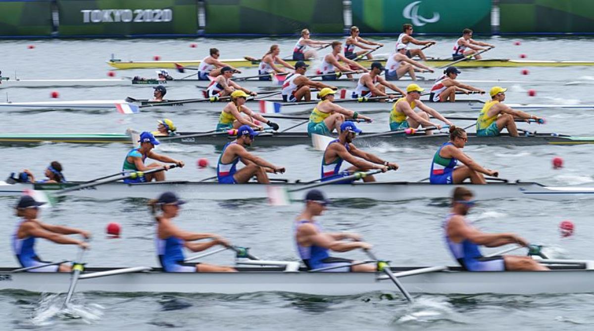
<instances>
[{"instance_id":1,"label":"rippling grey water of the rowing course around the boats","mask_svg":"<svg viewBox=\"0 0 594 331\"><path fill-rule=\"evenodd\" d=\"M3 55L0 70L4 75L17 71L20 78L104 78L109 67L104 63L111 53L123 60L143 61L160 55L162 59L201 59L209 47L219 47L222 58L243 55L260 56L270 43L279 43L287 53L294 40L201 39L197 48L190 48L195 40L43 40L0 41ZM394 40L381 40L393 47ZM445 56L453 39L441 39L428 55ZM594 49L591 39L527 39L521 46L513 40L493 38L497 48L489 57L527 59L587 60ZM28 44L36 48L27 49ZM563 44L563 47L559 45ZM388 46L386 46L387 48ZM245 54L239 50L245 50ZM388 52L390 49L386 50ZM567 52L579 49L582 52ZM522 68L463 69L460 78L557 80L552 85L512 85L508 103L594 103L591 85L563 85L565 81L594 79L591 68ZM253 74L251 69L247 74ZM11 74L12 75L12 74ZM117 71L117 77L153 75L153 70ZM180 77L181 74L176 75ZM527 97L529 88L537 90L536 97ZM150 88L38 88L0 90L1 98L12 101L49 100L50 91L57 90L60 100L119 99L126 96L148 97ZM170 98L197 96L194 87L170 88ZM545 126L530 126L539 131L590 135L594 112L546 110ZM466 114L467 115L467 114ZM186 113L143 112L134 116L93 112L30 112L7 113L4 132L124 132L126 128L152 129L156 120L169 117L178 128L209 130L216 123L216 114L200 111ZM376 121L366 125L366 131L387 130L387 113L375 114ZM298 122L280 122L289 126ZM470 123L469 123L470 124ZM305 126L300 128L305 130ZM257 145L257 142L256 144ZM70 180L88 180L113 173L121 167L129 149L125 145L78 146L43 144L34 147L2 147L3 162L0 174L30 168L40 174L49 161L64 164ZM400 164L399 171L381 175L382 180L420 180L427 176L434 146L373 145L367 148L382 158ZM465 149L479 163L500 170L500 176L510 179L537 181L551 185L585 184L592 186L590 171L591 146L486 147ZM211 170L194 166L198 158L216 162L220 150L212 146L163 145L160 152L180 158L188 164L182 170L172 170L169 179L198 180L213 176ZM254 148L258 155L274 164L287 167L282 177L315 179L321 153L304 145L286 148ZM552 170L551 159L561 156L565 167ZM0 231L4 247L0 264L15 266L10 250L9 235L17 218L12 215L12 198L0 199L0 214L5 215ZM93 249L86 258L89 266L156 266L154 256L154 224L147 211L146 201L122 199L94 201L67 198L52 209L44 209L47 222L85 228L95 234ZM216 202L191 200L184 205L178 224L195 231L220 233L233 243L249 246L252 252L267 259L295 259L291 241L292 219L300 205L271 207L254 200ZM369 200L346 200L332 206L321 221L328 229L351 230L361 233L374 244L382 258L394 265L453 265L441 240L441 222L447 214L444 200L412 200L378 203ZM514 231L534 243L545 244L551 256L589 259L594 240L591 222L591 202L580 200L544 202L538 200L501 199L481 202L470 218L485 231ZM576 234L560 238L558 224L570 219L576 224ZM105 238L108 222L122 224L120 239ZM40 241L37 247L43 259L72 259L74 247L61 247ZM495 252L489 250L488 252ZM364 258L361 252L342 254L355 259ZM232 263L229 253L209 256L206 262ZM64 285L64 291L68 284ZM504 286L504 284L502 284ZM302 294L264 292L242 295L179 294L127 295L77 294L77 313L80 318L51 317L52 307L61 304L55 295L24 292L0 293L0 322L7 329L57 329L80 327L93 330L132 329L291 329L321 330L336 327L344 330L443 330L461 329L500 330L520 329L592 329L593 297L582 295L419 295L414 305L407 305L398 292L366 293L352 297L315 297ZM87 325L88 324L88 325Z\"/></svg>"}]
</instances>

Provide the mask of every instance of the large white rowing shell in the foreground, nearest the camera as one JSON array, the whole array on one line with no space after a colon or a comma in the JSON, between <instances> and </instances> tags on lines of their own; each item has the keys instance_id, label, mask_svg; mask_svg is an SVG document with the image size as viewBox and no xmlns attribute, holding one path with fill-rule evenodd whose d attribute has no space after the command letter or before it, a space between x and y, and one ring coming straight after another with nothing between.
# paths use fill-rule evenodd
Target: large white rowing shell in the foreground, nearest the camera
<instances>
[{"instance_id":1,"label":"large white rowing shell in the foreground, nearest the camera","mask_svg":"<svg viewBox=\"0 0 594 331\"><path fill-rule=\"evenodd\" d=\"M254 261L257 263L258 261ZM241 263L241 262L239 262ZM543 260L552 271L468 272L457 267L416 273L421 268L391 268L404 287L425 294L567 294L593 293L591 261ZM0 268L0 290L64 292L69 273L15 272ZM139 268L141 269L141 268ZM121 273L116 268L86 268L77 291L89 292L179 292L242 294L251 292L293 292L314 295L356 295L366 292L397 292L385 275L372 272L287 271L283 266L239 266L239 272L168 273L160 268ZM405 273L412 275L405 276Z\"/></svg>"}]
</instances>

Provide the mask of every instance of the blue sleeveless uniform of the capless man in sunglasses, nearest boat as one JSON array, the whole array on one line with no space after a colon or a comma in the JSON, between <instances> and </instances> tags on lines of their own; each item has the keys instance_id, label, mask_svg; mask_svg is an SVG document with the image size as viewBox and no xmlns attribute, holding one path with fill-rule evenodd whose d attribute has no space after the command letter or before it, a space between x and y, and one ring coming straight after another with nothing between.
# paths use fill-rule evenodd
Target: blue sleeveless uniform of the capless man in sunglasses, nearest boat
<instances>
[{"instance_id":1,"label":"blue sleeveless uniform of the capless man in sunglasses, nearest boat","mask_svg":"<svg viewBox=\"0 0 594 331\"><path fill-rule=\"evenodd\" d=\"M445 243L460 266L469 271L504 271L503 256L483 257L479 246L465 239L454 243L447 235L447 225L454 214L449 214L443 223ZM465 220L466 221L466 220Z\"/></svg>"}]
</instances>

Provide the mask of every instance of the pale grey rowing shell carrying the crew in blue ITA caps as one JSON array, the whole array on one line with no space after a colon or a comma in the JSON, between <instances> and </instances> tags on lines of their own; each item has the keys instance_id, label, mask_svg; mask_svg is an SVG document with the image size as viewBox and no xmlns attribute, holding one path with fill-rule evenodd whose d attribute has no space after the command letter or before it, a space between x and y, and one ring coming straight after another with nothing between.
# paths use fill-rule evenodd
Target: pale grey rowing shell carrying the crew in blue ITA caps
<instances>
[{"instance_id":1,"label":"pale grey rowing shell carrying the crew in blue ITA caps","mask_svg":"<svg viewBox=\"0 0 594 331\"><path fill-rule=\"evenodd\" d=\"M77 182L68 184L0 182L0 196L21 195L23 190L52 190L72 187ZM66 193L69 196L102 200L146 198L153 199L160 192L173 191L185 199L202 200L237 200L267 199L268 190L274 187L295 190L303 183L274 184L219 184L214 182L150 182L125 184L113 182ZM552 187L532 182L501 182L466 184L479 199L533 198L563 200L575 198L594 198L594 187ZM412 199L447 198L451 195L451 185L437 185L426 182L375 182L353 184L326 184L319 189L332 199L372 199L379 201L401 201ZM304 192L295 191L295 200L301 200Z\"/></svg>"}]
</instances>

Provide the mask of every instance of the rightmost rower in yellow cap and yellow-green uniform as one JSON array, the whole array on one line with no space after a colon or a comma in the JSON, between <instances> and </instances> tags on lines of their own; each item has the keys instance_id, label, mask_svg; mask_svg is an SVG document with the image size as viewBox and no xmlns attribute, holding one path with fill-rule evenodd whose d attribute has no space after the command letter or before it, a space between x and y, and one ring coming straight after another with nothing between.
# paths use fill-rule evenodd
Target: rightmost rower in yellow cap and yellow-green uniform
<instances>
[{"instance_id":1,"label":"rightmost rower in yellow cap and yellow-green uniform","mask_svg":"<svg viewBox=\"0 0 594 331\"><path fill-rule=\"evenodd\" d=\"M536 123L544 123L541 117L522 112L522 110L511 109L506 104L505 91L507 88L494 86L489 91L491 101L485 103L481 114L476 119L476 136L498 136L501 130L507 128L510 136L517 137L518 129L516 119L524 119L526 122L535 120Z\"/></svg>"}]
</instances>

